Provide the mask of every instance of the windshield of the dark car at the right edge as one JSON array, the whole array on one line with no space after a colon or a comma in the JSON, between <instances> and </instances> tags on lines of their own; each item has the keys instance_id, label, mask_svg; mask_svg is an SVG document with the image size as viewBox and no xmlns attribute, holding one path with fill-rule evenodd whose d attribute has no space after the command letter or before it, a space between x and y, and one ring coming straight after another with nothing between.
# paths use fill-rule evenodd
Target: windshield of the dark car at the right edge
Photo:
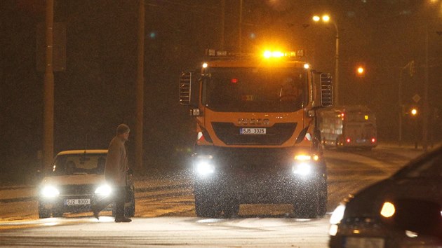
<instances>
[{"instance_id":1,"label":"windshield of the dark car at the right edge","mask_svg":"<svg viewBox=\"0 0 442 248\"><path fill-rule=\"evenodd\" d=\"M431 156L417 160L416 163L400 170L395 178L438 178L442 180L442 153L432 153Z\"/></svg>"}]
</instances>

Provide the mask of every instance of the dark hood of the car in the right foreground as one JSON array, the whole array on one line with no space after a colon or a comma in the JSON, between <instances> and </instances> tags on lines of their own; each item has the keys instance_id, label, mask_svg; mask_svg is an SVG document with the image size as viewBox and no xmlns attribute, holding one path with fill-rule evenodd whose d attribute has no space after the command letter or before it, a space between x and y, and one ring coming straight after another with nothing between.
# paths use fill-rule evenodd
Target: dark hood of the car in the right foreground
<instances>
[{"instance_id":1,"label":"dark hood of the car in the right foreground","mask_svg":"<svg viewBox=\"0 0 442 248\"><path fill-rule=\"evenodd\" d=\"M382 205L396 199L430 200L442 204L440 179L385 179L368 186L347 202L344 218L376 218Z\"/></svg>"}]
</instances>

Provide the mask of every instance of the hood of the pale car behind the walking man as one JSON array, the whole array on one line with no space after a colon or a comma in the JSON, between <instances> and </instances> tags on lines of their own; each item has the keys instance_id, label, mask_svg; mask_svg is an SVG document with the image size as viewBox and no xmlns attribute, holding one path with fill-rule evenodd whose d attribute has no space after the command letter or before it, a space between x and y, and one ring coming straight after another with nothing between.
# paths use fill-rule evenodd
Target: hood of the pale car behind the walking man
<instances>
[{"instance_id":1,"label":"hood of the pale car behind the walking man","mask_svg":"<svg viewBox=\"0 0 442 248\"><path fill-rule=\"evenodd\" d=\"M44 177L42 184L47 185L69 185L69 184L102 184L105 176L102 174L74 174L66 176Z\"/></svg>"}]
</instances>

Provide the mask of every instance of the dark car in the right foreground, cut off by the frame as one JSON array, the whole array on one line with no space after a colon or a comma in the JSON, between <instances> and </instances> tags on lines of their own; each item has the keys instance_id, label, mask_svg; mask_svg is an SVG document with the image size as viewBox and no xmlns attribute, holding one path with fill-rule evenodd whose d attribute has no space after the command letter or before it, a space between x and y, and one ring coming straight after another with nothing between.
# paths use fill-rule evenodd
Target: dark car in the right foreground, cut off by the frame
<instances>
[{"instance_id":1,"label":"dark car in the right foreground, cut off by the frame","mask_svg":"<svg viewBox=\"0 0 442 248\"><path fill-rule=\"evenodd\" d=\"M349 195L330 217L330 247L442 247L442 146Z\"/></svg>"}]
</instances>

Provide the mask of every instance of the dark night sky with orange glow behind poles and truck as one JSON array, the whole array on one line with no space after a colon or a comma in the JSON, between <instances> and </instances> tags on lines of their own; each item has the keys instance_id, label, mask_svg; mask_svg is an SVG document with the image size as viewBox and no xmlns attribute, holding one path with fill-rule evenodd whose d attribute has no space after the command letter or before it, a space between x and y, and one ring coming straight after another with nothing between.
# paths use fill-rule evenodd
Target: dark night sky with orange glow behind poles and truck
<instances>
[{"instance_id":1,"label":"dark night sky with orange glow behind poles and truck","mask_svg":"<svg viewBox=\"0 0 442 248\"><path fill-rule=\"evenodd\" d=\"M221 1L145 3L144 158L146 167L154 167L179 160L192 146L194 124L178 104L178 76L196 66L205 48L220 48ZM235 50L239 1L225 4L225 48ZM15 172L39 165L43 144L36 26L44 22L45 1L2 0L0 13L0 169L4 177L20 179ZM399 74L411 60L416 73L403 74L403 98L411 103L413 95L423 95L428 33L429 102L441 115L442 1L243 0L242 13L244 50L264 43L305 48L316 69L333 74L335 29L310 21L329 13L340 32L340 103L375 110L380 140L391 142L397 137ZM135 128L138 1L55 0L54 21L65 24L67 38L67 69L54 74L55 153L107 148L116 125ZM363 78L354 73L357 64L366 67ZM431 122L438 141L440 122Z\"/></svg>"}]
</instances>

